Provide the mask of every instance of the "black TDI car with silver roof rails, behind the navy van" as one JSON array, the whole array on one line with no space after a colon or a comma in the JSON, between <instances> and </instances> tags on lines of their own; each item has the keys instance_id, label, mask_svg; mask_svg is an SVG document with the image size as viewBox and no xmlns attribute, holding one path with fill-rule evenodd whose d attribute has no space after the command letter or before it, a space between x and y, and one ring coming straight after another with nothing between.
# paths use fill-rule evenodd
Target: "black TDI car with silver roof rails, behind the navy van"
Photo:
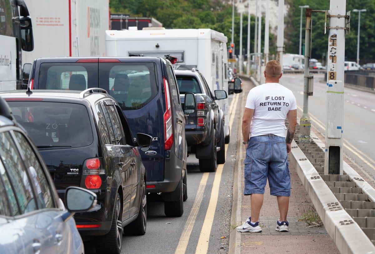
<instances>
[{"instance_id":1,"label":"black TDI car with silver roof rails, behind the navy van","mask_svg":"<svg viewBox=\"0 0 375 254\"><path fill-rule=\"evenodd\" d=\"M147 150L152 137L138 133L135 143L120 106L105 90L17 90L0 96L38 147L60 198L67 186L97 195L95 207L74 216L83 240L97 236L98 253L120 253L123 227L145 233L146 177L137 146Z\"/></svg>"}]
</instances>

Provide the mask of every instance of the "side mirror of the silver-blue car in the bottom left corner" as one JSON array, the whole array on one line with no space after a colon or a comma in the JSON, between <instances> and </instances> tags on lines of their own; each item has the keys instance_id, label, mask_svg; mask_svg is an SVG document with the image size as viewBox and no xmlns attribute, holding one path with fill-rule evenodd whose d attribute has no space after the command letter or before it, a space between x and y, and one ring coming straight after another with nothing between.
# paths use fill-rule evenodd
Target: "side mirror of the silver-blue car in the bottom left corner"
<instances>
[{"instance_id":1,"label":"side mirror of the silver-blue car in the bottom left corner","mask_svg":"<svg viewBox=\"0 0 375 254\"><path fill-rule=\"evenodd\" d=\"M96 194L84 188L70 186L65 191L66 209L69 212L86 212L96 205Z\"/></svg>"}]
</instances>

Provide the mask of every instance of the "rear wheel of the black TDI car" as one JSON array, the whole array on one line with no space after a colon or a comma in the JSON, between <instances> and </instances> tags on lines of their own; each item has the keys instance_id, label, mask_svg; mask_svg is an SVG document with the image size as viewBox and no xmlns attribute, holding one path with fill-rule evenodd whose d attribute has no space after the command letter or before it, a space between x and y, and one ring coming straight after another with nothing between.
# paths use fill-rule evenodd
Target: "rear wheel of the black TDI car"
<instances>
[{"instance_id":1,"label":"rear wheel of the black TDI car","mask_svg":"<svg viewBox=\"0 0 375 254\"><path fill-rule=\"evenodd\" d=\"M122 231L122 201L117 192L111 229L104 236L96 237L96 252L119 254L121 252Z\"/></svg>"}]
</instances>

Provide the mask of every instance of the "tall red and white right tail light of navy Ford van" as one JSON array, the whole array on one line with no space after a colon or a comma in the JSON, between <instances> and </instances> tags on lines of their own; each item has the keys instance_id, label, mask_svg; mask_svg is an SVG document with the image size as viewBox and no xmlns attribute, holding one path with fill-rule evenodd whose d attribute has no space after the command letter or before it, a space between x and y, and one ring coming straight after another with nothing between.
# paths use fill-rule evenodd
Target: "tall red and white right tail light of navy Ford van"
<instances>
[{"instance_id":1,"label":"tall red and white right tail light of navy Ford van","mask_svg":"<svg viewBox=\"0 0 375 254\"><path fill-rule=\"evenodd\" d=\"M164 93L165 93L165 104L166 110L164 113L164 149L170 150L173 144L173 123L172 123L172 110L171 110L171 95L169 93L169 84L165 77L164 81Z\"/></svg>"}]
</instances>

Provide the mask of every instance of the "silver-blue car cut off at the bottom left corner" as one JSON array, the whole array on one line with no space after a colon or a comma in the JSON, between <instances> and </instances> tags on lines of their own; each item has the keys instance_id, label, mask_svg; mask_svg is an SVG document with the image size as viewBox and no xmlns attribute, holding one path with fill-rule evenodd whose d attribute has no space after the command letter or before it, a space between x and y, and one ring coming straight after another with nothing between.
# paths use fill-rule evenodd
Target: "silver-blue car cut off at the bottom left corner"
<instances>
[{"instance_id":1,"label":"silver-blue car cut off at the bottom left corner","mask_svg":"<svg viewBox=\"0 0 375 254\"><path fill-rule=\"evenodd\" d=\"M0 253L84 253L73 216L95 207L96 194L70 186L64 206L42 156L1 97L0 138Z\"/></svg>"}]
</instances>

